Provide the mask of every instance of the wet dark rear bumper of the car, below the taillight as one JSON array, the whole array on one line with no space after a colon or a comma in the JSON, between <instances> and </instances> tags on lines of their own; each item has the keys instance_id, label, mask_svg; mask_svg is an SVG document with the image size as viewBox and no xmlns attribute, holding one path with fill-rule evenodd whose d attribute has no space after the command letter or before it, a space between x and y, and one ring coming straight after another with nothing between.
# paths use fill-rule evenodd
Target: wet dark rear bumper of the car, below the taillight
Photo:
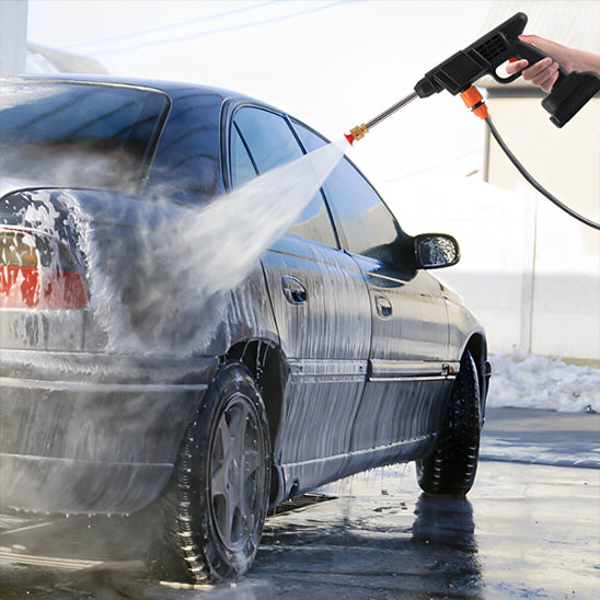
<instances>
[{"instance_id":1,"label":"wet dark rear bumper of the car, below the taillight","mask_svg":"<svg viewBox=\"0 0 600 600\"><path fill-rule=\"evenodd\" d=\"M0 350L0 507L142 508L217 368L214 357Z\"/></svg>"}]
</instances>

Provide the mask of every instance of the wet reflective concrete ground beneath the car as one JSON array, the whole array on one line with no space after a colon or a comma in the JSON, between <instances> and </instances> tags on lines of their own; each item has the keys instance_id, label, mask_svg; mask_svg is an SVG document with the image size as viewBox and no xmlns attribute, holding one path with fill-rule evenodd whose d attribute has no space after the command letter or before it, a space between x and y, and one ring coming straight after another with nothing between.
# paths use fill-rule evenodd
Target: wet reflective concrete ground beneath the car
<instances>
[{"instance_id":1,"label":"wet reflective concrete ground beneath the car","mask_svg":"<svg viewBox=\"0 0 600 600\"><path fill-rule=\"evenodd\" d=\"M124 519L0 516L0 598L598 598L600 415L491 409L484 431L468 499L422 495L412 464L344 480L272 516L231 585L152 580Z\"/></svg>"}]
</instances>

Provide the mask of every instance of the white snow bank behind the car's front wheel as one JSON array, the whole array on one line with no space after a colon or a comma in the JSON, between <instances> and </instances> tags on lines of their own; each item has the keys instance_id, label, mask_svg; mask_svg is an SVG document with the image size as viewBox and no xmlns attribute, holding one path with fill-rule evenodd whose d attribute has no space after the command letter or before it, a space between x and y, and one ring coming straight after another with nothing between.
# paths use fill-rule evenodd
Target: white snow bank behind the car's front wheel
<instances>
[{"instance_id":1,"label":"white snow bank behind the car's front wheel","mask_svg":"<svg viewBox=\"0 0 600 600\"><path fill-rule=\"evenodd\" d=\"M489 357L487 406L600 413L600 369L512 348Z\"/></svg>"}]
</instances>

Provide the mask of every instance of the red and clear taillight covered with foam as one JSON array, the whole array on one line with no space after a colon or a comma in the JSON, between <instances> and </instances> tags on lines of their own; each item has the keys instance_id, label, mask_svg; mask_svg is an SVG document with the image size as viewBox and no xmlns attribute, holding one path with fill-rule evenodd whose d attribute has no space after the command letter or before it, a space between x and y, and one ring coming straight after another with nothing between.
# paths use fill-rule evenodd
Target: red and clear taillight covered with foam
<instances>
[{"instance_id":1,"label":"red and clear taillight covered with foam","mask_svg":"<svg viewBox=\"0 0 600 600\"><path fill-rule=\"evenodd\" d=\"M0 229L0 308L82 309L88 282L71 252L38 231Z\"/></svg>"}]
</instances>

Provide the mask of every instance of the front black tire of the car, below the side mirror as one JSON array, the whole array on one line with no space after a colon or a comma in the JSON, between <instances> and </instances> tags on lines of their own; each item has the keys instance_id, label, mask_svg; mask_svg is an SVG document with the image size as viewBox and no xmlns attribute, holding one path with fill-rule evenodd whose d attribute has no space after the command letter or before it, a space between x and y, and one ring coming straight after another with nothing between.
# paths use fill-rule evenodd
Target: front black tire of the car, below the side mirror
<instances>
[{"instance_id":1,"label":"front black tire of the car, below the side mirror","mask_svg":"<svg viewBox=\"0 0 600 600\"><path fill-rule=\"evenodd\" d=\"M480 455L481 399L477 369L471 353L460 372L434 452L417 460L417 481L426 494L464 496L473 486Z\"/></svg>"}]
</instances>

